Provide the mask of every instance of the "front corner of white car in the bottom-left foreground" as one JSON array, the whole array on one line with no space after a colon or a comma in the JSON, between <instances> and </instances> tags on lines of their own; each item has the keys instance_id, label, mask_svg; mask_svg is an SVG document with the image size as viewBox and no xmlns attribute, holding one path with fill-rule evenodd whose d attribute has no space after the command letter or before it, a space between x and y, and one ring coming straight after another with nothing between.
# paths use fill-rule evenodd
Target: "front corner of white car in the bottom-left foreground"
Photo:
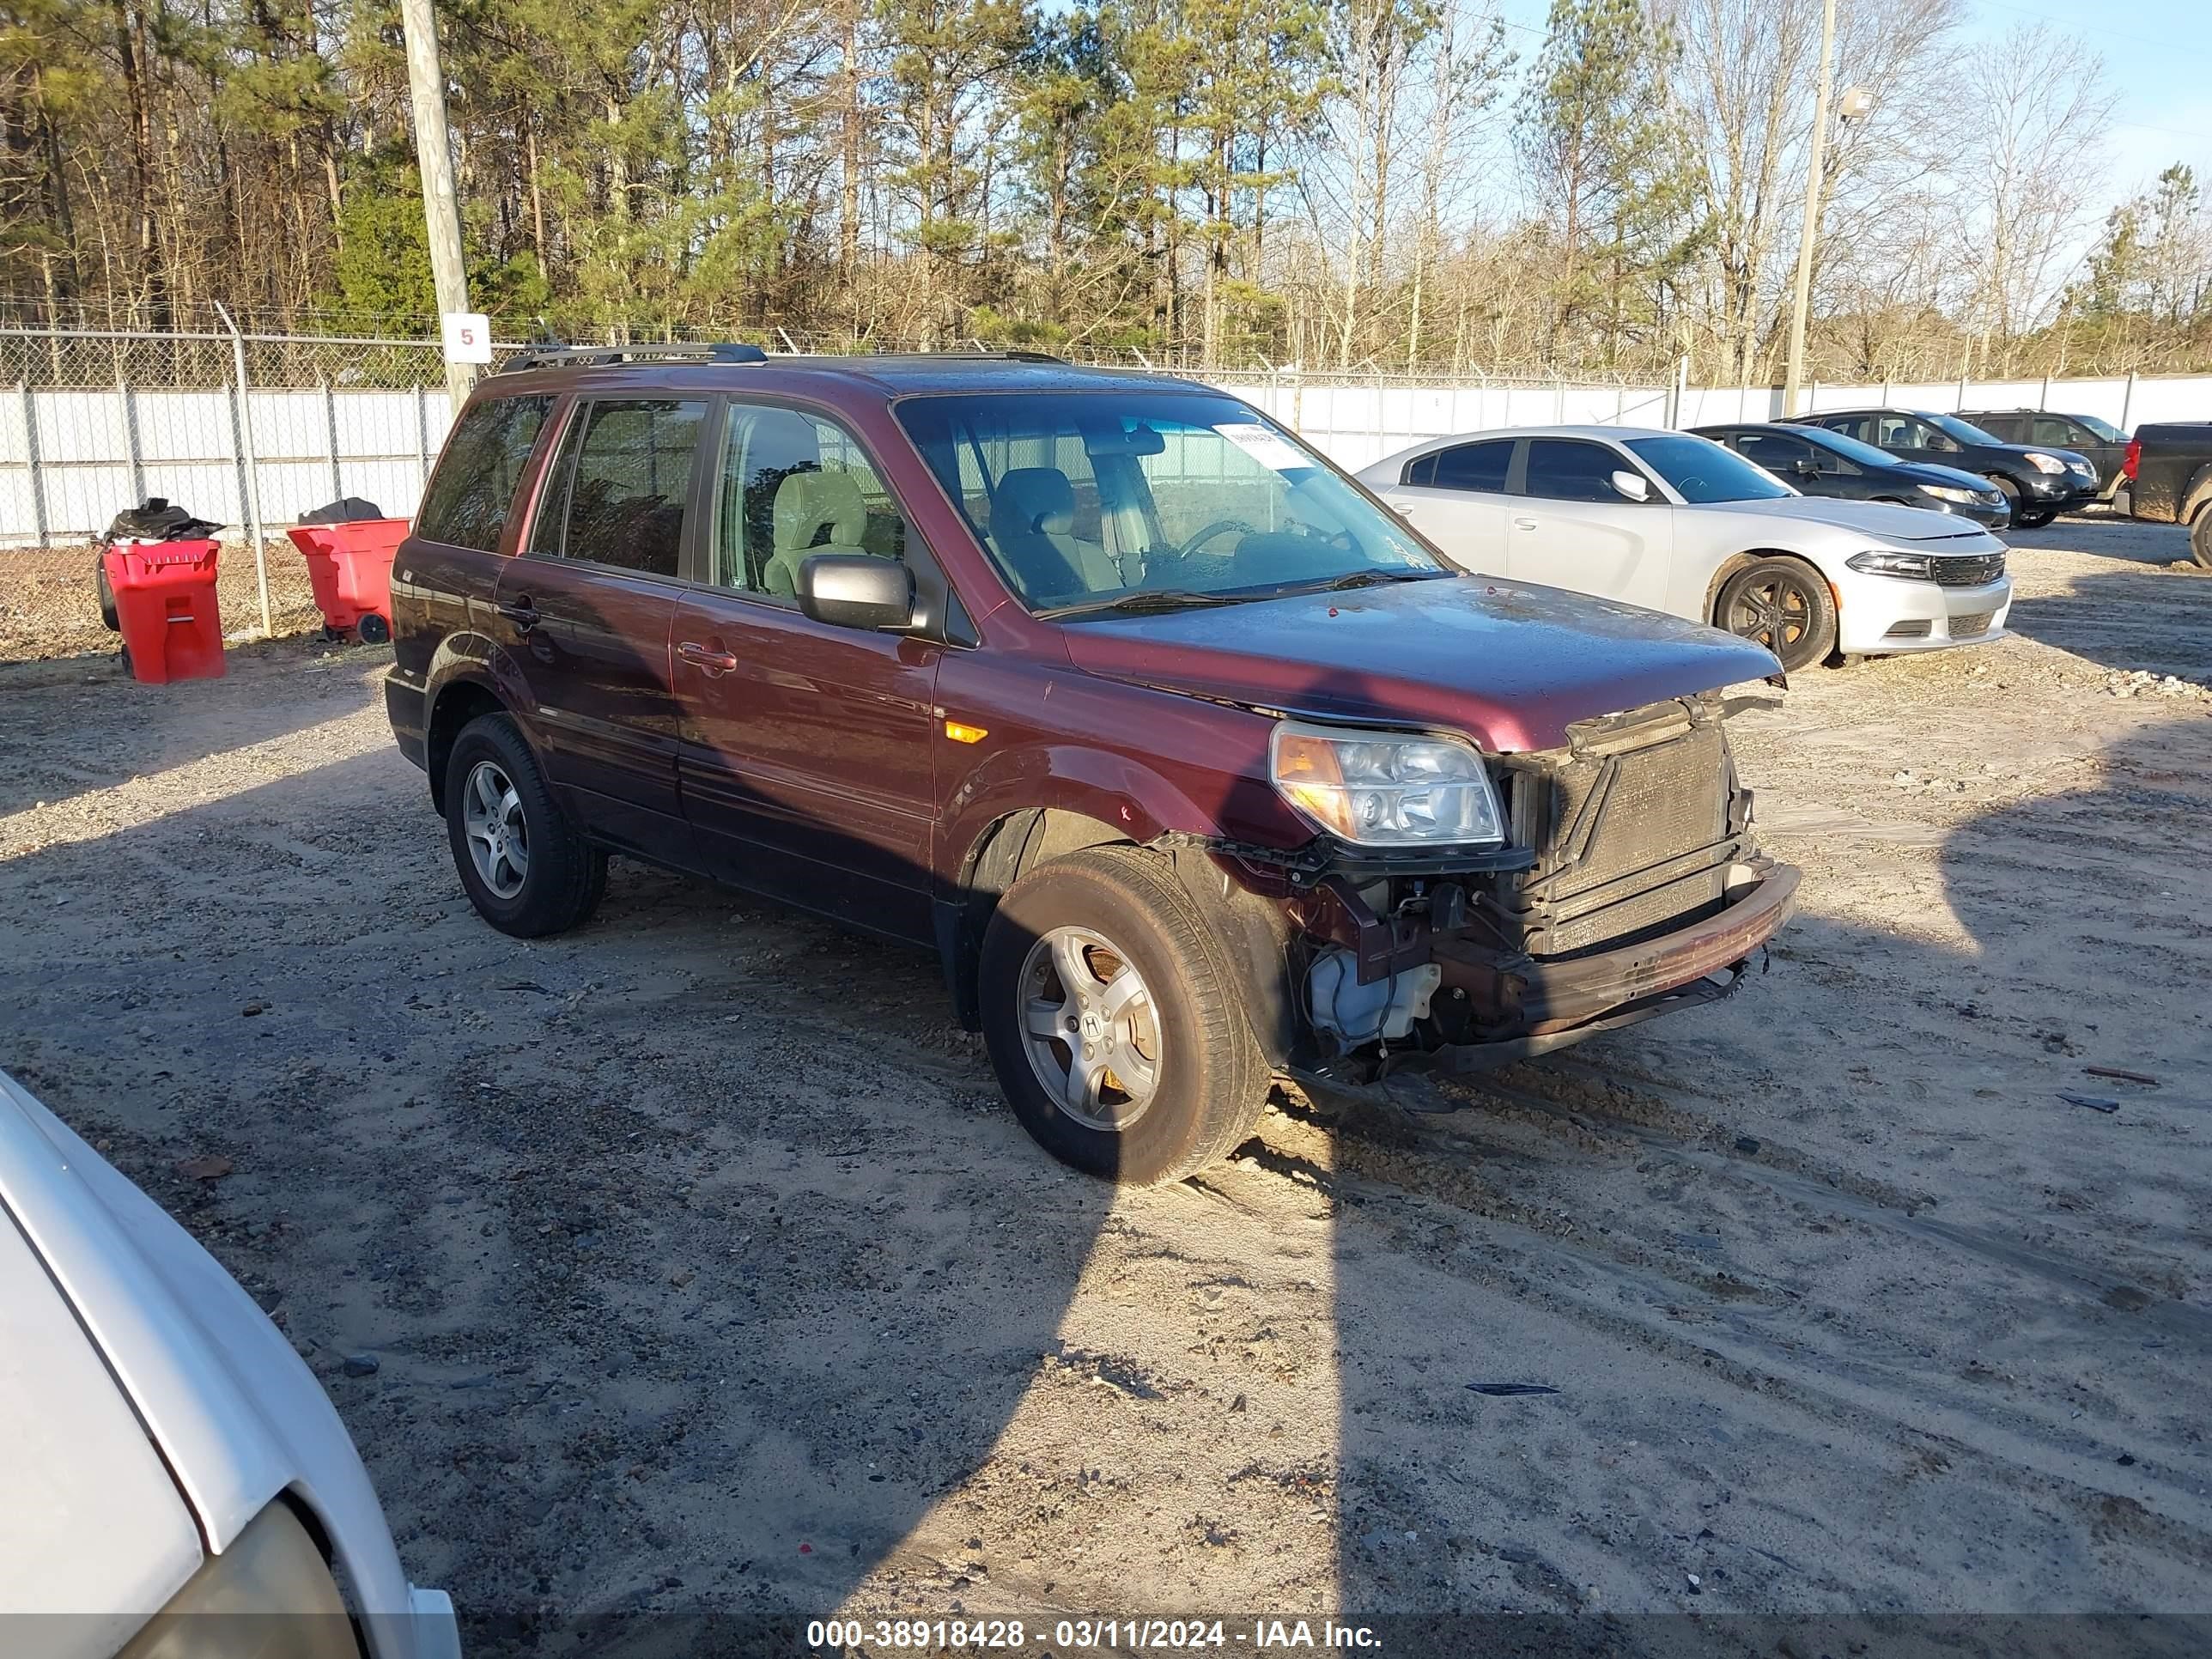
<instances>
[{"instance_id":1,"label":"front corner of white car in the bottom-left foreground","mask_svg":"<svg viewBox=\"0 0 2212 1659\"><path fill-rule=\"evenodd\" d=\"M283 1332L7 1073L0 1489L9 1659L460 1655Z\"/></svg>"}]
</instances>

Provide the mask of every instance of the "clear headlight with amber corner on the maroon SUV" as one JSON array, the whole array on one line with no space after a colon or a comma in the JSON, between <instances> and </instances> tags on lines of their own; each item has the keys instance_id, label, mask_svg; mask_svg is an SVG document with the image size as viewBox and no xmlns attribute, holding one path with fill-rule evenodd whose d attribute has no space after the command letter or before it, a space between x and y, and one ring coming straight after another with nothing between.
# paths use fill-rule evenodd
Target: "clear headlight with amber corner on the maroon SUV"
<instances>
[{"instance_id":1,"label":"clear headlight with amber corner on the maroon SUV","mask_svg":"<svg viewBox=\"0 0 2212 1659\"><path fill-rule=\"evenodd\" d=\"M1498 847L1504 814L1469 743L1283 721L1267 770L1292 810L1356 847Z\"/></svg>"}]
</instances>

